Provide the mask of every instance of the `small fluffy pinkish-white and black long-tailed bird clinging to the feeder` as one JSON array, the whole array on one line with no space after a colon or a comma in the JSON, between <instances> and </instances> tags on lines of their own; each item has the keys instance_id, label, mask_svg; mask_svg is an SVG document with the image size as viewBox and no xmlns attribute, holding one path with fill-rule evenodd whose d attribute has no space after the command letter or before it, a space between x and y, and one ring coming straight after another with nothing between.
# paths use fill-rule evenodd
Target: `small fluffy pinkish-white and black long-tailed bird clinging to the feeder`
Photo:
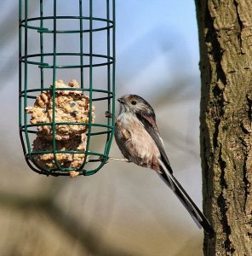
<instances>
[{"instance_id":1,"label":"small fluffy pinkish-white and black long-tailed bird clinging to the feeder","mask_svg":"<svg viewBox=\"0 0 252 256\"><path fill-rule=\"evenodd\" d=\"M115 121L114 136L123 157L138 166L156 171L186 207L198 227L213 235L215 231L209 220L174 176L152 106L137 95L125 95L117 101L120 111Z\"/></svg>"}]
</instances>

